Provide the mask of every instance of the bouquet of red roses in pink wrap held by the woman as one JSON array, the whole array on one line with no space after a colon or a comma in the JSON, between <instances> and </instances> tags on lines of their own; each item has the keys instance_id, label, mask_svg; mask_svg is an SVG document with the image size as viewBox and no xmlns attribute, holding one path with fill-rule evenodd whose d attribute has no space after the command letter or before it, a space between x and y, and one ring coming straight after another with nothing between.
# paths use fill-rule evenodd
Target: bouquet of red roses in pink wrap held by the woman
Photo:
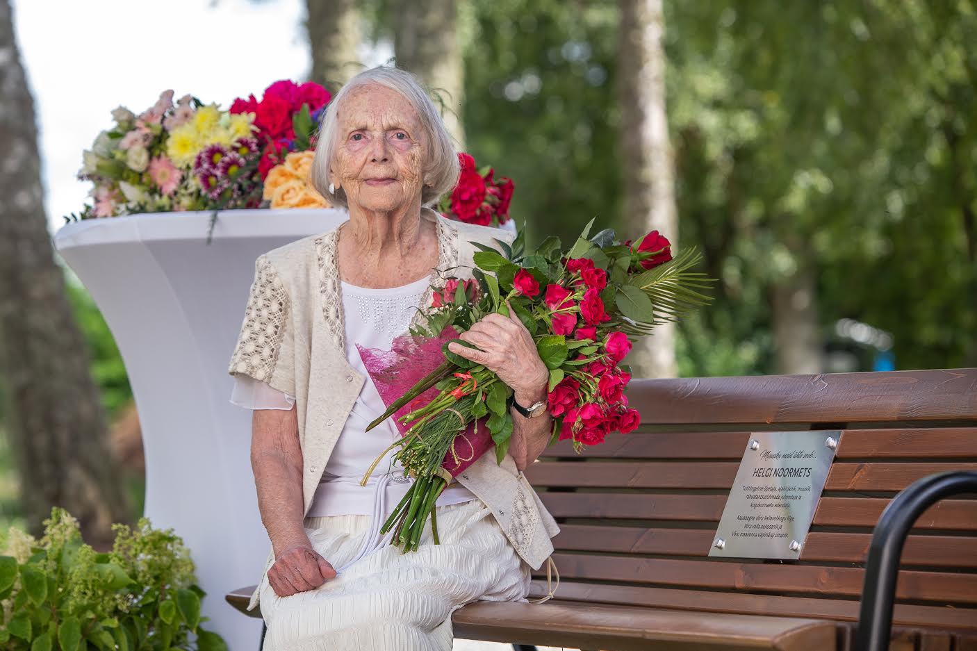
<instances>
[{"instance_id":1,"label":"bouquet of red roses in pink wrap held by the woman","mask_svg":"<svg viewBox=\"0 0 977 651\"><path fill-rule=\"evenodd\" d=\"M708 303L703 292L711 281L693 271L701 259L695 249L673 257L658 231L618 242L610 229L589 237L592 225L569 250L549 237L527 251L525 232L511 246L496 240L498 250L473 242L480 249L473 278L442 270L446 282L423 327L399 337L391 351L360 351L388 405L367 431L394 415L403 434L377 460L399 447L395 458L415 478L381 528L393 529L392 542L404 551L417 548L429 517L438 542L435 502L453 477L492 447L499 463L508 451L512 390L447 348L451 341L471 347L457 335L488 314L510 316L511 306L549 369L551 444L570 440L579 453L638 426L624 395L631 374L621 361L655 325Z\"/></svg>"}]
</instances>

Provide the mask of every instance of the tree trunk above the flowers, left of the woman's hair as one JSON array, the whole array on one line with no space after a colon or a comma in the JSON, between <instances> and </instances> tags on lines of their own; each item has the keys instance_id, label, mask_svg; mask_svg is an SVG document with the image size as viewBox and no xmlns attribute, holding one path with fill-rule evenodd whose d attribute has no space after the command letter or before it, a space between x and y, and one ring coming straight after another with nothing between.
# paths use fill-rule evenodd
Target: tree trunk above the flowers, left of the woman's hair
<instances>
[{"instance_id":1,"label":"tree trunk above the flowers, left of the woman's hair","mask_svg":"<svg viewBox=\"0 0 977 651\"><path fill-rule=\"evenodd\" d=\"M306 0L312 80L335 93L361 70L361 16L355 0Z\"/></svg>"}]
</instances>

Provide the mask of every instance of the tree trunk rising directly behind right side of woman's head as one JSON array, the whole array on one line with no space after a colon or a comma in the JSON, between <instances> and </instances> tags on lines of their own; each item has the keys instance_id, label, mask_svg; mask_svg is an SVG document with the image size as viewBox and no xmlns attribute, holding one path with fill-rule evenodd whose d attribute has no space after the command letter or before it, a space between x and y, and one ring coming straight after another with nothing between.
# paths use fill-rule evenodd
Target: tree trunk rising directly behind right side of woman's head
<instances>
[{"instance_id":1,"label":"tree trunk rising directly behind right side of woman's head","mask_svg":"<svg viewBox=\"0 0 977 651\"><path fill-rule=\"evenodd\" d=\"M434 91L447 130L462 150L464 67L457 35L456 0L397 0L394 15L397 66L416 74Z\"/></svg>"}]
</instances>

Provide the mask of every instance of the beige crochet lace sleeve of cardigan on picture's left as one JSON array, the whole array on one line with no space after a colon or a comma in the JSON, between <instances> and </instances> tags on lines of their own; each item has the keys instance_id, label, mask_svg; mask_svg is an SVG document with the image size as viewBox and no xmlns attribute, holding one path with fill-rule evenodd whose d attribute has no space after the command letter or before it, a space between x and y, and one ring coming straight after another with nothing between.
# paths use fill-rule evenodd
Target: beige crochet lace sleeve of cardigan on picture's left
<instances>
[{"instance_id":1,"label":"beige crochet lace sleeve of cardigan on picture's left","mask_svg":"<svg viewBox=\"0 0 977 651\"><path fill-rule=\"evenodd\" d=\"M254 265L254 282L228 372L267 382L295 395L291 302L275 267L264 255Z\"/></svg>"}]
</instances>

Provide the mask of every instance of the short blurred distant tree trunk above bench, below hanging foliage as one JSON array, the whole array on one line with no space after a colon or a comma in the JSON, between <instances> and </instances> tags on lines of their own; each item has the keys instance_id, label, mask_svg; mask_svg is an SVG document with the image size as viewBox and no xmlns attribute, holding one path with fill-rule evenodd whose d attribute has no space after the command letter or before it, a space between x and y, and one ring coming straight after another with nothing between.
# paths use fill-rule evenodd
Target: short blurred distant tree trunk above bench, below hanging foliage
<instances>
[{"instance_id":1,"label":"short blurred distant tree trunk above bench, below hanging foliage","mask_svg":"<svg viewBox=\"0 0 977 651\"><path fill-rule=\"evenodd\" d=\"M812 265L798 256L797 269L773 286L774 344L777 372L822 372L818 293Z\"/></svg>"}]
</instances>

